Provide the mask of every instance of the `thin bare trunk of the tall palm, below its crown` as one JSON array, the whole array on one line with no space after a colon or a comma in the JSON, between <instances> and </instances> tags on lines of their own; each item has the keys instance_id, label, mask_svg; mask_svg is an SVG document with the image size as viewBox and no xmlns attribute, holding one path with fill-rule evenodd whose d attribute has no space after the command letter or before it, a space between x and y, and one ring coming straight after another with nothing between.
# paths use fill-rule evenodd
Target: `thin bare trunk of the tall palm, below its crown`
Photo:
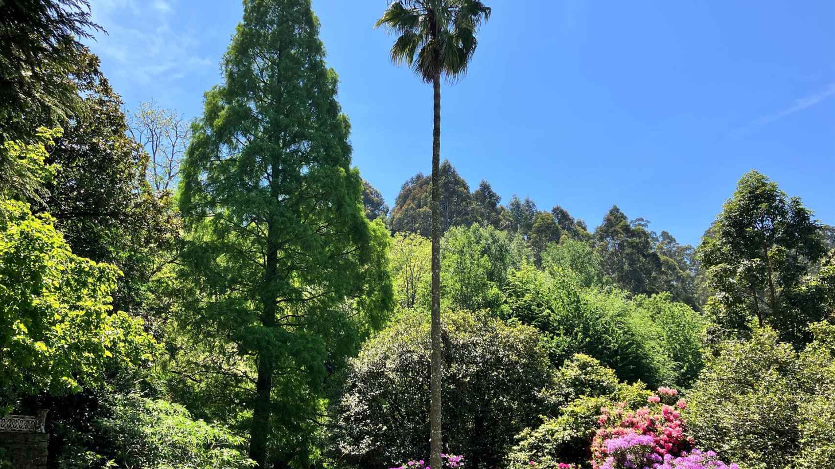
<instances>
[{"instance_id":1,"label":"thin bare trunk of the tall palm, below its crown","mask_svg":"<svg viewBox=\"0 0 835 469\"><path fill-rule=\"evenodd\" d=\"M432 82L434 116L432 132L432 378L430 382L430 437L429 462L433 469L441 469L441 187L438 166L441 161L441 72L435 72Z\"/></svg>"}]
</instances>

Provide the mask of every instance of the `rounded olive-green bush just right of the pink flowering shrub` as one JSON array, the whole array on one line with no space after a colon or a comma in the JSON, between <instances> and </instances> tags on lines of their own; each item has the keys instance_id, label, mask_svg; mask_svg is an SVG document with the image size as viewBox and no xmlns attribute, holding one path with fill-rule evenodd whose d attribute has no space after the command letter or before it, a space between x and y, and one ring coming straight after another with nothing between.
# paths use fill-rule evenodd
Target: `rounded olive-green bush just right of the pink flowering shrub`
<instances>
[{"instance_id":1,"label":"rounded olive-green bush just right of the pink flowering shrub","mask_svg":"<svg viewBox=\"0 0 835 469\"><path fill-rule=\"evenodd\" d=\"M693 437L746 467L777 469L799 450L798 363L770 328L724 342L689 394Z\"/></svg>"}]
</instances>

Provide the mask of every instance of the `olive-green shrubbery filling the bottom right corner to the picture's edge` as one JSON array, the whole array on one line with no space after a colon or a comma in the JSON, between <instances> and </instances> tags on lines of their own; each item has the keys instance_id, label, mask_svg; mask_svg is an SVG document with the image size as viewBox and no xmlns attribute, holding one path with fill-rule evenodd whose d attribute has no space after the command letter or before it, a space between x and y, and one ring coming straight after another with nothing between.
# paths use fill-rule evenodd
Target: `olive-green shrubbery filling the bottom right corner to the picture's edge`
<instances>
[{"instance_id":1,"label":"olive-green shrubbery filling the bottom right corner to the picture's edge","mask_svg":"<svg viewBox=\"0 0 835 469\"><path fill-rule=\"evenodd\" d=\"M746 467L831 464L835 328L812 331L815 342L799 355L768 327L718 347L688 395L696 441Z\"/></svg>"}]
</instances>

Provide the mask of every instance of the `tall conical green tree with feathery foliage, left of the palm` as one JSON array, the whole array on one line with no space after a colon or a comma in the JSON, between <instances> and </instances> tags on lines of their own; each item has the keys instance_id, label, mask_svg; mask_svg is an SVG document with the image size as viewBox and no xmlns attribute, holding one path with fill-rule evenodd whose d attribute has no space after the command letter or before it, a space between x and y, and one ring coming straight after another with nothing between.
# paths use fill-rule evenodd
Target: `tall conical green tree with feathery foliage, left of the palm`
<instances>
[{"instance_id":1,"label":"tall conical green tree with feathery foliage, left of the palm","mask_svg":"<svg viewBox=\"0 0 835 469\"><path fill-rule=\"evenodd\" d=\"M250 422L258 467L308 463L298 442L328 365L392 305L387 231L363 213L318 36L310 0L246 0L180 172L180 322L231 364L215 375L243 388L229 406Z\"/></svg>"}]
</instances>

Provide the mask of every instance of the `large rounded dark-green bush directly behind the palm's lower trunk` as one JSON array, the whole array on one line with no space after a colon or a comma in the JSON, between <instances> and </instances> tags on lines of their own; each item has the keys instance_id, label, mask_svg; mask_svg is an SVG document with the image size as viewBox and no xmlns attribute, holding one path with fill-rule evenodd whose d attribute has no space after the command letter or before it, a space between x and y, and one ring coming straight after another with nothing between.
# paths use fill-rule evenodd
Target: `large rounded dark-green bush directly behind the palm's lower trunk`
<instances>
[{"instance_id":1,"label":"large rounded dark-green bush directly behind the palm's lower trunk","mask_svg":"<svg viewBox=\"0 0 835 469\"><path fill-rule=\"evenodd\" d=\"M539 421L551 382L537 332L486 313L443 314L444 444L468 466L496 467L513 436ZM349 364L331 411L342 462L387 467L429 451L429 318L401 312Z\"/></svg>"}]
</instances>

